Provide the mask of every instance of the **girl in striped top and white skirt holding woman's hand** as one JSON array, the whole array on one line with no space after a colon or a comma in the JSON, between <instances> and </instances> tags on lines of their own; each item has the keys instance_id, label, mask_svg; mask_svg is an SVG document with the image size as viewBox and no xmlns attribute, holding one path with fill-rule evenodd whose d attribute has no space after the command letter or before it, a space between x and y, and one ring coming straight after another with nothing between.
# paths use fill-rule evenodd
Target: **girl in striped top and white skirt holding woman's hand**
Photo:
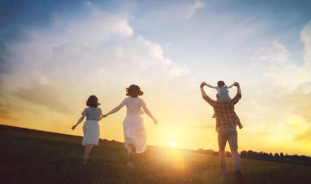
<instances>
[{"instance_id":1,"label":"girl in striped top and white skirt holding woman's hand","mask_svg":"<svg viewBox=\"0 0 311 184\"><path fill-rule=\"evenodd\" d=\"M86 167L88 155L92 147L98 145L100 135L98 121L102 119L100 117L101 109L98 107L100 103L98 103L98 99L95 95L89 96L85 103L86 106L88 106L88 108L84 109L84 111L81 113L82 115L81 118L72 127L72 129L74 130L78 126L78 124L84 120L84 117L86 116L86 121L82 126L83 128L82 146L84 146L84 156L81 158L81 164L84 167Z\"/></svg>"}]
</instances>

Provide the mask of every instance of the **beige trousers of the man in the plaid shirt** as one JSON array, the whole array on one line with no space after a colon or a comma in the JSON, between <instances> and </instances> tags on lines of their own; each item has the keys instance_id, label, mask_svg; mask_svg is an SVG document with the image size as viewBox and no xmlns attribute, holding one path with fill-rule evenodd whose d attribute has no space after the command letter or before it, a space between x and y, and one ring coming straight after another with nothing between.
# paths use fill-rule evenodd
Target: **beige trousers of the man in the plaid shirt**
<instances>
[{"instance_id":1,"label":"beige trousers of the man in the plaid shirt","mask_svg":"<svg viewBox=\"0 0 311 184\"><path fill-rule=\"evenodd\" d=\"M233 169L234 171L240 170L241 168L241 162L240 162L240 156L237 152L237 131L236 127L219 127L218 129L218 145L219 145L219 160L220 160L220 166L223 172L223 175L228 175L228 164L227 164L227 158L226 158L226 143L227 140L229 142L229 146L231 149L231 155L232 155L232 163L233 163Z\"/></svg>"}]
</instances>

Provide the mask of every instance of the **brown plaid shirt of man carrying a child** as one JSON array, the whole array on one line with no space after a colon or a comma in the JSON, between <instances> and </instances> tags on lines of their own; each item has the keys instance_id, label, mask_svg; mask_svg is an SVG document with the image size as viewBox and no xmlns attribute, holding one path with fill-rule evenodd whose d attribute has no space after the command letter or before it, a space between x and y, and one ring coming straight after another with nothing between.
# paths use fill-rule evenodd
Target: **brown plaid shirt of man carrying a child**
<instances>
[{"instance_id":1,"label":"brown plaid shirt of man carrying a child","mask_svg":"<svg viewBox=\"0 0 311 184\"><path fill-rule=\"evenodd\" d=\"M234 105L241 99L241 94L236 94L230 103L219 103L209 96L203 97L203 99L213 106L216 116L216 131L218 127L233 127L238 126L240 129L243 127L239 118L234 112Z\"/></svg>"}]
</instances>

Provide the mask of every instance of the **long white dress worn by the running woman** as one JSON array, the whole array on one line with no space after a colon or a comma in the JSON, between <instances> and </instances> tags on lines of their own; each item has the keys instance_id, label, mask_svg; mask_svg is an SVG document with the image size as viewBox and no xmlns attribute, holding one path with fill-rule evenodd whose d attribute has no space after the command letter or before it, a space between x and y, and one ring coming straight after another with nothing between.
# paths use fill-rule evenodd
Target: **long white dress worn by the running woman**
<instances>
[{"instance_id":1,"label":"long white dress worn by the running woman","mask_svg":"<svg viewBox=\"0 0 311 184\"><path fill-rule=\"evenodd\" d=\"M147 132L144 119L141 117L144 114L141 108L146 105L145 101L139 97L128 97L121 102L121 105L126 105L127 108L126 117L123 120L125 148L132 143L137 153L146 151Z\"/></svg>"}]
</instances>

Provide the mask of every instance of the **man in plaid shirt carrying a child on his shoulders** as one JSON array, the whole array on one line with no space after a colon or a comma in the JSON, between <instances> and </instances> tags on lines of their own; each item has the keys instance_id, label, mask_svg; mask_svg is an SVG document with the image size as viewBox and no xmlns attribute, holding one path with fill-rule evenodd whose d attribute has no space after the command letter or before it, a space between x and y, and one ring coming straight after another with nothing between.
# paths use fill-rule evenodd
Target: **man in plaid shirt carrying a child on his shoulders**
<instances>
[{"instance_id":1,"label":"man in plaid shirt carrying a child on his shoulders","mask_svg":"<svg viewBox=\"0 0 311 184\"><path fill-rule=\"evenodd\" d=\"M237 87L236 95L229 103L219 103L212 100L206 95L204 91L204 86L207 85L206 82L202 82L200 85L201 94L203 99L209 103L213 108L216 116L216 131L218 132L218 145L219 145L219 160L222 173L224 176L228 176L228 164L226 159L226 143L229 142L231 149L233 168L235 171L235 176L240 184L244 184L242 177L242 168L240 157L237 152L237 131L236 126L241 129L243 126L240 123L239 118L234 112L234 105L241 99L241 89L238 82L234 82L233 85Z\"/></svg>"}]
</instances>

